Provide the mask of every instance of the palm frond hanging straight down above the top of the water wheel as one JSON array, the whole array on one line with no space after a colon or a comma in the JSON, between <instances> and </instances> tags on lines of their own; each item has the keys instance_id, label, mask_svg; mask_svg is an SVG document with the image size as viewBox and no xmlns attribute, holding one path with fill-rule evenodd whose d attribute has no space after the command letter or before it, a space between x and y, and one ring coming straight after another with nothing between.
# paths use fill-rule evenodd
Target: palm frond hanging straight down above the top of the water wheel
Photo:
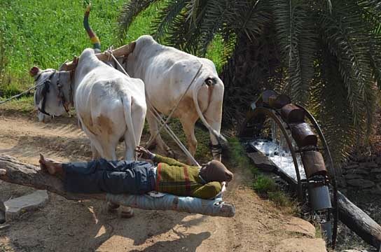
<instances>
[{"instance_id":1,"label":"palm frond hanging straight down above the top of the water wheel","mask_svg":"<svg viewBox=\"0 0 381 252\"><path fill-rule=\"evenodd\" d=\"M312 18L308 15L308 6L303 1L272 1L275 15L275 28L279 48L289 84L285 92L300 104L308 100L310 80L314 74L317 36Z\"/></svg>"}]
</instances>

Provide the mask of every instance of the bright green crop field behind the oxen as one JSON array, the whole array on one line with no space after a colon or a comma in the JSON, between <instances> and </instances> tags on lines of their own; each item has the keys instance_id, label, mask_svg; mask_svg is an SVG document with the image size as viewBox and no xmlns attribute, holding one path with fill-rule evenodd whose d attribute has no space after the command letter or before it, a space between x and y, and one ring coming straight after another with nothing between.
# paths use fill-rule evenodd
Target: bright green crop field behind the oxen
<instances>
[{"instance_id":1,"label":"bright green crop field behind the oxen","mask_svg":"<svg viewBox=\"0 0 381 252\"><path fill-rule=\"evenodd\" d=\"M102 50L119 46L116 20L125 0L92 1L90 26L99 36ZM0 97L7 97L33 84L29 69L57 69L66 59L91 47L83 28L84 1L0 1ZM151 34L154 8L137 18L128 32L132 41Z\"/></svg>"}]
</instances>

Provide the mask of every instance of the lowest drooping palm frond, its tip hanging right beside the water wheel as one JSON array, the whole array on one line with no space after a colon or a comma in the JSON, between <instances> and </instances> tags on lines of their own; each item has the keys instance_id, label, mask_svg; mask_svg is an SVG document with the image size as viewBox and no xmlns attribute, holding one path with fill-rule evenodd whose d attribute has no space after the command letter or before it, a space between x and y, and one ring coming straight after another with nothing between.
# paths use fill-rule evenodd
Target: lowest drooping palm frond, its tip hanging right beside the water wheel
<instances>
[{"instance_id":1,"label":"lowest drooping palm frond, its tip hanging right beside the water wheel","mask_svg":"<svg viewBox=\"0 0 381 252\"><path fill-rule=\"evenodd\" d=\"M311 110L317 115L335 167L348 157L363 128L353 125L347 90L339 68L337 57L323 47L317 60L310 100Z\"/></svg>"}]
</instances>

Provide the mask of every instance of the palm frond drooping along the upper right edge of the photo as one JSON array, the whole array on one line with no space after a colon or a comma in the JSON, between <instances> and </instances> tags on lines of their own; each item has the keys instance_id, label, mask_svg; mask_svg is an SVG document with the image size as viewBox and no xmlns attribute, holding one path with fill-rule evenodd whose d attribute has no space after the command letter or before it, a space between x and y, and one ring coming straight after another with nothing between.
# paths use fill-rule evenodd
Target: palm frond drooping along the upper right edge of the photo
<instances>
[{"instance_id":1,"label":"palm frond drooping along the upper right edge of the photo","mask_svg":"<svg viewBox=\"0 0 381 252\"><path fill-rule=\"evenodd\" d=\"M363 22L359 6L353 3L333 6L332 14L321 15L320 25L325 43L338 58L353 123L359 126L365 117L370 130L375 94L366 45L371 27Z\"/></svg>"}]
</instances>

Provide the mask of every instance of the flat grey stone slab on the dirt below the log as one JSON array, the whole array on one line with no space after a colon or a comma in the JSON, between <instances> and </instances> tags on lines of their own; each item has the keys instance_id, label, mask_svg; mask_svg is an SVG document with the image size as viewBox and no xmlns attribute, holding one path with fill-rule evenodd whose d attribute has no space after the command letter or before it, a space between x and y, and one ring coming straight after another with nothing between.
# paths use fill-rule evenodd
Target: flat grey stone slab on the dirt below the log
<instances>
[{"instance_id":1,"label":"flat grey stone slab on the dirt below the log","mask_svg":"<svg viewBox=\"0 0 381 252\"><path fill-rule=\"evenodd\" d=\"M36 192L29 195L7 200L4 202L4 206L0 205L0 208L3 207L2 210L5 211L6 221L11 221L27 211L34 211L44 207L48 200L49 196L46 190L36 190Z\"/></svg>"}]
</instances>

